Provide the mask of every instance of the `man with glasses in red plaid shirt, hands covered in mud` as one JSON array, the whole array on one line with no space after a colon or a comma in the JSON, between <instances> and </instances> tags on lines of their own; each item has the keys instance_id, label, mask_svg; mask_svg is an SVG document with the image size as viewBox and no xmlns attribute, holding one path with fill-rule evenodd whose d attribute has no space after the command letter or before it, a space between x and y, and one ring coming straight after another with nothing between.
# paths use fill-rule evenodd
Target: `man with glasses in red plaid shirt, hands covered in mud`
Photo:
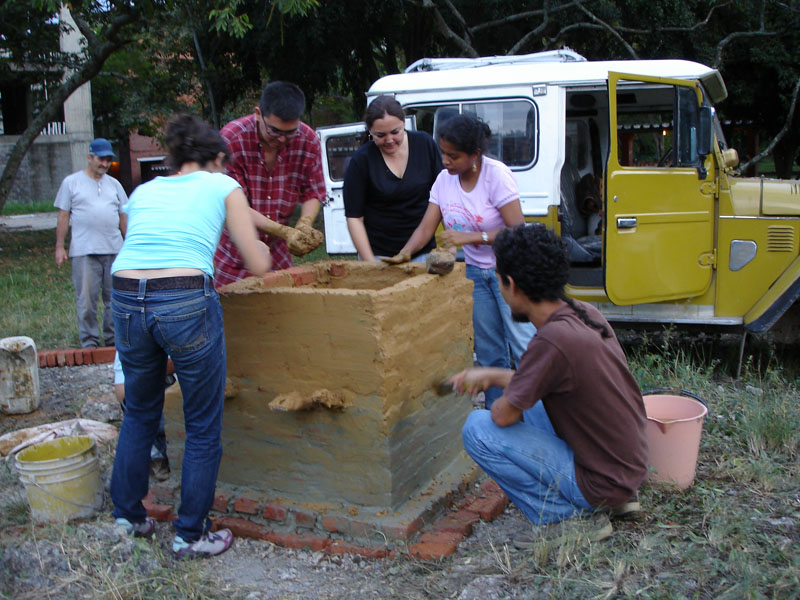
<instances>
[{"instance_id":1,"label":"man with glasses in red plaid shirt, hands covered in mud","mask_svg":"<svg viewBox=\"0 0 800 600\"><path fill-rule=\"evenodd\" d=\"M228 175L239 182L254 209L253 220L269 246L273 269L292 266L286 242L275 233L290 231L281 225L287 225L298 204L300 218L295 228L316 245L323 239L312 227L325 198L322 153L314 130L300 121L305 103L298 86L273 81L264 88L254 114L231 121L220 132L228 142ZM227 229L222 232L214 265L216 287L251 275Z\"/></svg>"}]
</instances>

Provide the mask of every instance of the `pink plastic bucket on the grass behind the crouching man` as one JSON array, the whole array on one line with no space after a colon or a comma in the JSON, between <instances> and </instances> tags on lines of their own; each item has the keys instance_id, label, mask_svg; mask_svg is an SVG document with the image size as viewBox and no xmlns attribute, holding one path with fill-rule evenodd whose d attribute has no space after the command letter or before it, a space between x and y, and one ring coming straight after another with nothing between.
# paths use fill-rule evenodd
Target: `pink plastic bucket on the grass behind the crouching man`
<instances>
[{"instance_id":1,"label":"pink plastic bucket on the grass behind the crouching man","mask_svg":"<svg viewBox=\"0 0 800 600\"><path fill-rule=\"evenodd\" d=\"M688 488L697 470L703 417L708 409L693 398L670 394L644 396L644 408L650 479Z\"/></svg>"}]
</instances>

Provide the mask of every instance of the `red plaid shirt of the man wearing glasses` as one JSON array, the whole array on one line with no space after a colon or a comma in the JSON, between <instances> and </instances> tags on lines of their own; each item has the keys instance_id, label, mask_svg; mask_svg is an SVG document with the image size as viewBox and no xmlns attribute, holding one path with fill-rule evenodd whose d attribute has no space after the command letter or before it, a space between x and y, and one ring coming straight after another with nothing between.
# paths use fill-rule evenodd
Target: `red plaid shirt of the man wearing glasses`
<instances>
[{"instance_id":1,"label":"red plaid shirt of the man wearing glasses","mask_svg":"<svg viewBox=\"0 0 800 600\"><path fill-rule=\"evenodd\" d=\"M254 114L231 121L220 133L228 142L230 161L228 175L242 186L250 206L278 223L288 224L298 204L325 198L325 178L322 174L322 152L314 130L300 123L300 134L281 148L272 171L264 164L264 151L258 139ZM269 246L273 269L292 266L292 256L286 242L259 232ZM214 255L214 285L219 287L249 277L239 251L228 230L222 232Z\"/></svg>"}]
</instances>

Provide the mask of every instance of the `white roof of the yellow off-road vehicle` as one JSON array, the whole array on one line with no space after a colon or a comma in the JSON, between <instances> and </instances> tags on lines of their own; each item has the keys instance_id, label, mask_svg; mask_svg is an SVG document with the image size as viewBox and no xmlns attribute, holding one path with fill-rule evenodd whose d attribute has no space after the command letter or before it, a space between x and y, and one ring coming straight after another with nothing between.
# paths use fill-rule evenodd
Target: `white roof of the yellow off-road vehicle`
<instances>
[{"instance_id":1,"label":"white roof of the yellow off-road vehicle","mask_svg":"<svg viewBox=\"0 0 800 600\"><path fill-rule=\"evenodd\" d=\"M727 96L719 71L688 60L528 62L400 73L378 79L370 87L367 96L515 85L604 85L610 71L673 79L700 79L715 102Z\"/></svg>"}]
</instances>

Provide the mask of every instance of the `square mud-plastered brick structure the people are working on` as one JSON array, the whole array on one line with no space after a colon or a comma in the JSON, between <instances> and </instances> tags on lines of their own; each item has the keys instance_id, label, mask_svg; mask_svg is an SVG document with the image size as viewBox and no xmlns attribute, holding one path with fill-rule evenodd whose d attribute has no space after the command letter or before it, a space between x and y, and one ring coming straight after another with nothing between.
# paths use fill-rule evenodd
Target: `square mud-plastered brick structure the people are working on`
<instances>
[{"instance_id":1,"label":"square mud-plastered brick structure the people are working on","mask_svg":"<svg viewBox=\"0 0 800 600\"><path fill-rule=\"evenodd\" d=\"M222 305L238 393L225 407L221 483L396 507L462 457L472 403L435 387L472 364L463 264L439 276L422 264L312 263L268 286L227 286ZM168 416L180 406L168 398ZM170 460L180 464L179 449Z\"/></svg>"}]
</instances>

